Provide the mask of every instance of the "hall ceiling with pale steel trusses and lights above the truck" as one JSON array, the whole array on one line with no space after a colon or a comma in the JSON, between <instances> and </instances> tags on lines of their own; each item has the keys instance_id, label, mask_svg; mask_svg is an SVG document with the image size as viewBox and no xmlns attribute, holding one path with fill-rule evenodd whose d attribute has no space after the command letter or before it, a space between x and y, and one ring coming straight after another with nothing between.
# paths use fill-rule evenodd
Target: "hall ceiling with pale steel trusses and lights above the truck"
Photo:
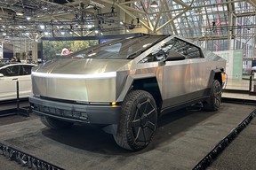
<instances>
[{"instance_id":1,"label":"hall ceiling with pale steel trusses and lights above the truck","mask_svg":"<svg viewBox=\"0 0 256 170\"><path fill-rule=\"evenodd\" d=\"M31 40L43 36L84 36L95 34L95 31L113 34L125 32L126 29L136 31L136 28L141 27L148 34L168 33L194 39L211 39L218 36L233 38L237 36L238 29L255 28L255 22L239 26L236 19L252 20L256 14L256 0L158 0L158 8L150 7L152 0L61 2L63 1L1 1L0 40L20 36ZM241 3L245 3L248 9L243 10L241 7L237 11L236 6ZM121 13L125 16L121 17ZM28 16L31 19L26 19ZM46 28L40 29L41 25ZM191 27L195 30L192 31ZM46 31L48 35L45 34ZM62 35L61 31L65 31L66 35Z\"/></svg>"}]
</instances>

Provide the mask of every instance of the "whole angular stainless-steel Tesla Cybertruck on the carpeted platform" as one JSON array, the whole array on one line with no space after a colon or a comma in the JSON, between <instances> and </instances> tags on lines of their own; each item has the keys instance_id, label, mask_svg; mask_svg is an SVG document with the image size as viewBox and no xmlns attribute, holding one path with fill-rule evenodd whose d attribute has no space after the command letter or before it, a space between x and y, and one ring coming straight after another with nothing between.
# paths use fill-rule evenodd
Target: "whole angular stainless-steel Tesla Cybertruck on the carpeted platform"
<instances>
[{"instance_id":1,"label":"whole angular stainless-steel Tesla Cybertruck on the carpeted platform","mask_svg":"<svg viewBox=\"0 0 256 170\"><path fill-rule=\"evenodd\" d=\"M164 113L217 111L226 60L176 35L116 39L32 69L33 112L49 128L100 125L130 151L148 146Z\"/></svg>"}]
</instances>

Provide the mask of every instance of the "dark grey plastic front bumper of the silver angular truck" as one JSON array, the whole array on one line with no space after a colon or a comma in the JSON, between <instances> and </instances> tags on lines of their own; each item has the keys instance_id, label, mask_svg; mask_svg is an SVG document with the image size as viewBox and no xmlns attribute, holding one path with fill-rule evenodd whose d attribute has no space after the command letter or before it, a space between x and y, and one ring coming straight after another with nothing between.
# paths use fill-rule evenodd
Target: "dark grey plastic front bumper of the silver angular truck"
<instances>
[{"instance_id":1,"label":"dark grey plastic front bumper of the silver angular truck","mask_svg":"<svg viewBox=\"0 0 256 170\"><path fill-rule=\"evenodd\" d=\"M32 111L41 116L90 124L117 124L121 106L68 104L29 96Z\"/></svg>"}]
</instances>

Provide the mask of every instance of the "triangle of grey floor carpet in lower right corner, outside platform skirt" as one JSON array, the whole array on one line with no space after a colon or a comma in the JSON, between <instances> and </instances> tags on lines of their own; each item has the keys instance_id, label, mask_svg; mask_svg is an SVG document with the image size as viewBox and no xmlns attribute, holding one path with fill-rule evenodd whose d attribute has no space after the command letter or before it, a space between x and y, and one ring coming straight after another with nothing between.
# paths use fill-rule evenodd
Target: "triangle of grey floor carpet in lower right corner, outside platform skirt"
<instances>
[{"instance_id":1,"label":"triangle of grey floor carpet in lower right corner, outside platform skirt","mask_svg":"<svg viewBox=\"0 0 256 170\"><path fill-rule=\"evenodd\" d=\"M236 139L228 145L207 170L256 169L256 119L254 118Z\"/></svg>"}]
</instances>

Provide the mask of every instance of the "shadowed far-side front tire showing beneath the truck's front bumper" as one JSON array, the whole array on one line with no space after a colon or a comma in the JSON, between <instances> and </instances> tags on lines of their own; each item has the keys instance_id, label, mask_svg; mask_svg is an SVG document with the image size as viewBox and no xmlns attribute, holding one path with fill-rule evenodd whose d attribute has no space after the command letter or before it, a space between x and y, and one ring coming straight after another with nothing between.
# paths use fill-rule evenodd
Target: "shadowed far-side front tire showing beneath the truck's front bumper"
<instances>
[{"instance_id":1,"label":"shadowed far-side front tire showing beneath the truck's front bumper","mask_svg":"<svg viewBox=\"0 0 256 170\"><path fill-rule=\"evenodd\" d=\"M73 125L73 123L71 122L57 120L48 116L41 116L40 120L44 123L46 127L53 129L70 128Z\"/></svg>"}]
</instances>

